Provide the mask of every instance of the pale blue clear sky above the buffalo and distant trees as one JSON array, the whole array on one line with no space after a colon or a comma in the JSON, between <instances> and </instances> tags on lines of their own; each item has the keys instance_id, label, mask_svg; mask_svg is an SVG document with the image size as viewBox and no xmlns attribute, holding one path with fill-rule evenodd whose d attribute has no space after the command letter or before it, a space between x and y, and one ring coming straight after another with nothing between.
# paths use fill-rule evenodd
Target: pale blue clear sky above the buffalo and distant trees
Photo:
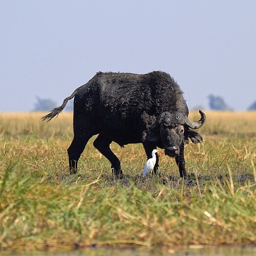
<instances>
[{"instance_id":1,"label":"pale blue clear sky above the buffalo and distant trees","mask_svg":"<svg viewBox=\"0 0 256 256\"><path fill-rule=\"evenodd\" d=\"M58 104L98 71L172 75L188 107L256 100L256 1L0 0L0 112Z\"/></svg>"}]
</instances>

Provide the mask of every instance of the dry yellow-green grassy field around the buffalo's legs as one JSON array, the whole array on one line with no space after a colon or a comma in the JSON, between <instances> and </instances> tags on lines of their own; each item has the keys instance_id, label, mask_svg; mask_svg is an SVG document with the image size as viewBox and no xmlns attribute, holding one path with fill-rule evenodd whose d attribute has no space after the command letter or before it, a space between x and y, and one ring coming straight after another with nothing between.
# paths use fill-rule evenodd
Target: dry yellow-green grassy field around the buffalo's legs
<instances>
[{"instance_id":1,"label":"dry yellow-green grassy field around the buffalo's legs","mask_svg":"<svg viewBox=\"0 0 256 256\"><path fill-rule=\"evenodd\" d=\"M71 176L72 113L44 114L0 114L0 249L256 244L255 112L206 112L185 181L163 150L159 175L142 179L142 145L112 143L124 173L114 179L93 138Z\"/></svg>"}]
</instances>

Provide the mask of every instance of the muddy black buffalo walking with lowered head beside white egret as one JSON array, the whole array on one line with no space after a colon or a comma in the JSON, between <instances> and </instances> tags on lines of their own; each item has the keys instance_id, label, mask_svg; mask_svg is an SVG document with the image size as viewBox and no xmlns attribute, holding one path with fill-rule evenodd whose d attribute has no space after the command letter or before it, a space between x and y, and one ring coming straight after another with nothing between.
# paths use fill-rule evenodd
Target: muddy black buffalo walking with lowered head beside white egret
<instances>
[{"instance_id":1,"label":"muddy black buffalo walking with lowered head beside white egret","mask_svg":"<svg viewBox=\"0 0 256 256\"><path fill-rule=\"evenodd\" d=\"M77 88L62 105L43 120L58 115L74 98L74 138L68 148L70 172L77 172L77 162L88 140L98 134L93 145L111 162L113 174L119 176L120 161L110 149L115 141L120 146L142 143L147 155L156 147L165 155L175 157L180 177L186 177L184 144L188 138L199 143L198 129L205 122L188 119L188 108L177 82L169 74L154 71L148 74L98 72L90 81ZM156 172L157 162L154 168Z\"/></svg>"}]
</instances>

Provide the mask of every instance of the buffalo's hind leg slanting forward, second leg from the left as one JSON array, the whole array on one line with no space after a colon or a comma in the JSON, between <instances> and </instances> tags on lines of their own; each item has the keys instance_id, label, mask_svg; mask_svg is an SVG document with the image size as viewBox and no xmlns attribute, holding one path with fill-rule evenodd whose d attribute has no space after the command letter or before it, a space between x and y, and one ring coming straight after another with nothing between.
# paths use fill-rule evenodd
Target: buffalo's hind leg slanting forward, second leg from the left
<instances>
[{"instance_id":1,"label":"buffalo's hind leg slanting forward, second leg from the left","mask_svg":"<svg viewBox=\"0 0 256 256\"><path fill-rule=\"evenodd\" d=\"M97 150L111 162L111 168L115 177L120 177L122 174L121 164L117 156L111 151L110 144L112 140L106 138L104 135L99 134L93 145Z\"/></svg>"}]
</instances>

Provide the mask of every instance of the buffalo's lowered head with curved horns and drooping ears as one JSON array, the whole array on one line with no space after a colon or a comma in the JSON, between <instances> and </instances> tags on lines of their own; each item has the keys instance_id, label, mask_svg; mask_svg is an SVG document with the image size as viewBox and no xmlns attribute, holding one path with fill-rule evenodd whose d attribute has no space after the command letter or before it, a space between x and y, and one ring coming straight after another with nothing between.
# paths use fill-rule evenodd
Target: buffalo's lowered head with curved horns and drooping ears
<instances>
[{"instance_id":1,"label":"buffalo's lowered head with curved horns and drooping ears","mask_svg":"<svg viewBox=\"0 0 256 256\"><path fill-rule=\"evenodd\" d=\"M201 110L199 113L201 119L193 122L182 112L163 112L149 129L143 132L142 141L156 142L159 147L164 148L165 155L178 156L181 146L188 143L188 138L194 143L203 141L200 134L189 130L198 129L204 124L206 116Z\"/></svg>"}]
</instances>

